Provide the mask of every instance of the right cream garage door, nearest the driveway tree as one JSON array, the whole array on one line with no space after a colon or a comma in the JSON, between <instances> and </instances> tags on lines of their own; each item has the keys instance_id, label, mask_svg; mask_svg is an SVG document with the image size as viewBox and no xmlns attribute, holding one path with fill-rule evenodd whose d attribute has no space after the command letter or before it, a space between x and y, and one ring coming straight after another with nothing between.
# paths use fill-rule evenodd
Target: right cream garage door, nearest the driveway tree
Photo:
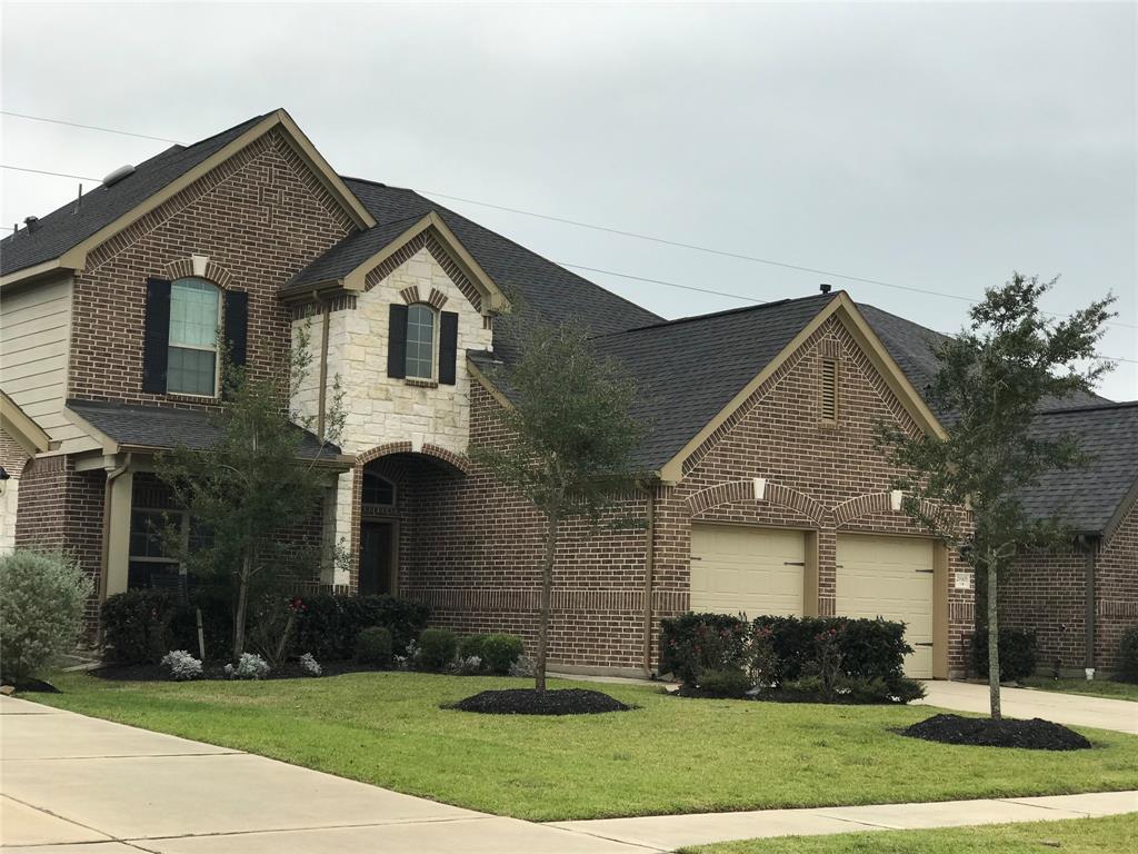
<instances>
[{"instance_id":1,"label":"right cream garage door, nearest the driveway tree","mask_svg":"<svg viewBox=\"0 0 1138 854\"><path fill-rule=\"evenodd\" d=\"M836 610L906 624L914 652L905 673L932 678L932 541L904 536L838 537Z\"/></svg>"}]
</instances>

